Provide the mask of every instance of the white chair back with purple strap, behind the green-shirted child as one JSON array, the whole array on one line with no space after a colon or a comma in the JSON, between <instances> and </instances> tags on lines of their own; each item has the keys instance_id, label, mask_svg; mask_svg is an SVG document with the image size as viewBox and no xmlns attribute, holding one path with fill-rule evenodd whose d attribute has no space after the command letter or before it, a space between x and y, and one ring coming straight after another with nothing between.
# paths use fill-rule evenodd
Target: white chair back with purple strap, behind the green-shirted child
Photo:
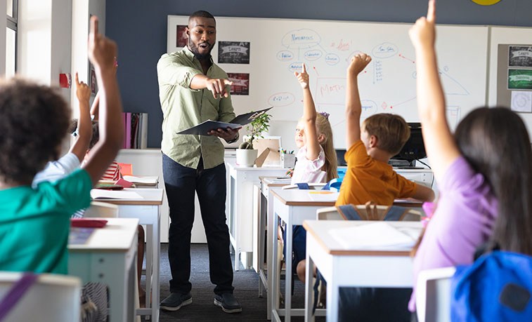
<instances>
[{"instance_id":1,"label":"white chair back with purple strap, behind the green-shirted child","mask_svg":"<svg viewBox=\"0 0 532 322\"><path fill-rule=\"evenodd\" d=\"M22 277L20 272L0 271L0 298ZM75 276L41 274L3 322L79 321L82 282Z\"/></svg>"}]
</instances>

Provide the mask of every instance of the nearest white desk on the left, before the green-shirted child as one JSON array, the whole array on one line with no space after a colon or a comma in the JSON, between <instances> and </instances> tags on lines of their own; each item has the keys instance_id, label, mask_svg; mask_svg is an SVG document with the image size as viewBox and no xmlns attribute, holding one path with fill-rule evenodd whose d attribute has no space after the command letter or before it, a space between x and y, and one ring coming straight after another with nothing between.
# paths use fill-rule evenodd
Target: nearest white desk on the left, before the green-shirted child
<instances>
[{"instance_id":1,"label":"nearest white desk on the left, before the green-shirted child","mask_svg":"<svg viewBox=\"0 0 532 322\"><path fill-rule=\"evenodd\" d=\"M107 284L110 322L134 321L138 219L105 220L85 243L68 245L68 274Z\"/></svg>"}]
</instances>

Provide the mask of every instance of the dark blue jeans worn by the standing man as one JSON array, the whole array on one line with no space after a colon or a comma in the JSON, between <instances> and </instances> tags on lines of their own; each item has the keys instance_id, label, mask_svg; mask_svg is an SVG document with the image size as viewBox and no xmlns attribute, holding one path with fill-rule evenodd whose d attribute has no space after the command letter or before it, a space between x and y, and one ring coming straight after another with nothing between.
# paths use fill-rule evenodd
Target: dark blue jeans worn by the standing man
<instances>
[{"instance_id":1,"label":"dark blue jeans worn by the standing man","mask_svg":"<svg viewBox=\"0 0 532 322\"><path fill-rule=\"evenodd\" d=\"M188 293L190 283L190 232L194 222L194 192L209 248L209 273L214 293L233 293L233 267L226 224L226 166L187 168L162 154L164 187L170 208L168 259L170 292Z\"/></svg>"}]
</instances>

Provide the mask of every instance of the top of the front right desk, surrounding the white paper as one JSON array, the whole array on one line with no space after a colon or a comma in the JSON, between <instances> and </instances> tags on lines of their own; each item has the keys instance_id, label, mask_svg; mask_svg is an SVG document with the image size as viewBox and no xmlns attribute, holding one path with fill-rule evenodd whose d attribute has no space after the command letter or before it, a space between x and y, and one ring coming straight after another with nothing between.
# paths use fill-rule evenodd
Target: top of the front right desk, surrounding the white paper
<instances>
[{"instance_id":1,"label":"top of the front right desk, surrounding the white paper","mask_svg":"<svg viewBox=\"0 0 532 322\"><path fill-rule=\"evenodd\" d=\"M340 244L331 234L329 234L330 229L360 226L363 224L370 224L373 221L370 220L305 220L303 222L303 227L306 229L306 232L312 234L312 236L320 243L323 249L331 255L364 255L364 256L408 256L410 255L409 250L356 250L356 249L345 249L342 244ZM421 222L391 222L388 221L387 224L391 224L394 227L408 227L419 229L421 234L423 225Z\"/></svg>"}]
</instances>

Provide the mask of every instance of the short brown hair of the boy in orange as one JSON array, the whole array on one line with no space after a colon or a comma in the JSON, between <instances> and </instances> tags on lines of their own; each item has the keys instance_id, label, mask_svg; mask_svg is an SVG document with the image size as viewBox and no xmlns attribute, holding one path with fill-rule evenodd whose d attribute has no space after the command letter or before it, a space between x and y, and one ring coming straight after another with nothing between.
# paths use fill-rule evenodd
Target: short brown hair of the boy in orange
<instances>
[{"instance_id":1,"label":"short brown hair of the boy in orange","mask_svg":"<svg viewBox=\"0 0 532 322\"><path fill-rule=\"evenodd\" d=\"M408 137L410 128L403 117L397 114L379 113L364 120L364 129L377 137L377 148L392 156L398 154Z\"/></svg>"}]
</instances>

